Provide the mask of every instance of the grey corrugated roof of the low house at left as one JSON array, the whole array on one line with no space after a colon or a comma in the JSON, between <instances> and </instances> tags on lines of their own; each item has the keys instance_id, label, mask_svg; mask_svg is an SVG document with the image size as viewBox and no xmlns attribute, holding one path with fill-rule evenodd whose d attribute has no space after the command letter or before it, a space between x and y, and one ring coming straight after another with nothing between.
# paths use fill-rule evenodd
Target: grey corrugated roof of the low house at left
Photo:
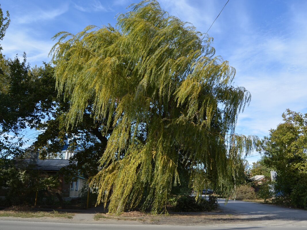
<instances>
[{"instance_id":1,"label":"grey corrugated roof of the low house at left","mask_svg":"<svg viewBox=\"0 0 307 230\"><path fill-rule=\"evenodd\" d=\"M18 167L26 167L29 165L30 159L15 159L15 164ZM59 171L61 168L68 166L69 160L64 159L38 159L35 169L44 171Z\"/></svg>"}]
</instances>

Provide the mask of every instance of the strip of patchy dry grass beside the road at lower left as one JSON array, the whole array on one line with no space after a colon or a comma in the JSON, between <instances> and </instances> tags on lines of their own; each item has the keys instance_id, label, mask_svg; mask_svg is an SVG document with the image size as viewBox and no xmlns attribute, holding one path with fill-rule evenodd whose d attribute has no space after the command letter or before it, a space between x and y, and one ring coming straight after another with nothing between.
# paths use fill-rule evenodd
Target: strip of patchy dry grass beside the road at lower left
<instances>
[{"instance_id":1,"label":"strip of patchy dry grass beside the road at lower left","mask_svg":"<svg viewBox=\"0 0 307 230\"><path fill-rule=\"evenodd\" d=\"M21 218L31 218L31 217L60 217L60 218L68 218L72 219L74 213L66 213L66 212L43 212L43 211L0 211L0 217L21 217Z\"/></svg>"}]
</instances>

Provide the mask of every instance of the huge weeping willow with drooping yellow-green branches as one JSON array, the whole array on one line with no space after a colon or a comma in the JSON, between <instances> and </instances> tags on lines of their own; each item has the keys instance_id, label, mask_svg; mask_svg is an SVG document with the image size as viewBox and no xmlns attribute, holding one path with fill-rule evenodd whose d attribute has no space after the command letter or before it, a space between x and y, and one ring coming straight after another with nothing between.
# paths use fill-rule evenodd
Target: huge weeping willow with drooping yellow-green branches
<instances>
[{"instance_id":1,"label":"huge weeping willow with drooping yellow-green branches","mask_svg":"<svg viewBox=\"0 0 307 230\"><path fill-rule=\"evenodd\" d=\"M235 135L237 116L250 102L234 87L235 69L215 56L210 37L190 23L142 1L117 25L60 32L51 50L57 88L70 102L67 124L91 108L112 130L91 180L97 204L110 213L141 205L165 210L183 165L195 191L210 181L230 194L243 152L254 137ZM198 197L198 196L196 196Z\"/></svg>"}]
</instances>

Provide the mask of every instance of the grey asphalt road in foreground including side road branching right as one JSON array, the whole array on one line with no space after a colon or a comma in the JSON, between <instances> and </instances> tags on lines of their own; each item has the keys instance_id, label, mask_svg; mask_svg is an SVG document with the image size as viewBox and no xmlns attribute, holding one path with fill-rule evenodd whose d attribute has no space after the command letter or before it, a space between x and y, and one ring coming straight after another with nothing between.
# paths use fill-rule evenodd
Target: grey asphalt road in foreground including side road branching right
<instances>
[{"instance_id":1,"label":"grey asphalt road in foreground including side road branching right","mask_svg":"<svg viewBox=\"0 0 307 230\"><path fill-rule=\"evenodd\" d=\"M2 217L0 230L307 230L307 211L301 209L282 208L276 205L266 205L245 201L224 201L219 199L222 213L236 221L223 222L203 226L165 226L146 224L108 224L93 221L93 213L79 213L73 219L27 219ZM214 213L212 213L214 215ZM210 214L210 215L212 215ZM190 225L187 223L187 225Z\"/></svg>"}]
</instances>

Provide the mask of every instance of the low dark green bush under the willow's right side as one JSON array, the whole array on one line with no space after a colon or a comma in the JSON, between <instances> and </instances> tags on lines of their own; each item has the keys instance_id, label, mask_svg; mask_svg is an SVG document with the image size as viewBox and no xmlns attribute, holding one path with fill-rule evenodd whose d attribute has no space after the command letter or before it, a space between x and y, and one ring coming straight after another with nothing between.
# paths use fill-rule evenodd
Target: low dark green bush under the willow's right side
<instances>
[{"instance_id":1,"label":"low dark green bush under the willow's right side","mask_svg":"<svg viewBox=\"0 0 307 230\"><path fill-rule=\"evenodd\" d=\"M196 202L195 197L181 195L173 197L170 204L175 212L210 212L219 206L216 196L209 196L208 200L201 198Z\"/></svg>"}]
</instances>

